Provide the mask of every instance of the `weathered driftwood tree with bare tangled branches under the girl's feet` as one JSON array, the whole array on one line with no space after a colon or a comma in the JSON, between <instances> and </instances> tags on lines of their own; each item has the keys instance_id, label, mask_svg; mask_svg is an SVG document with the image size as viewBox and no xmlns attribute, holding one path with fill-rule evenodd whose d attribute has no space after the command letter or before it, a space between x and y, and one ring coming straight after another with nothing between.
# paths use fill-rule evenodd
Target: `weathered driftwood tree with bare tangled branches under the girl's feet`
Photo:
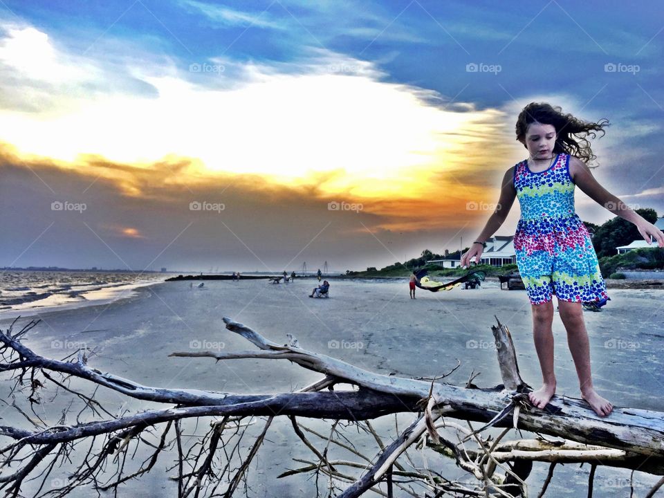
<instances>
[{"instance_id":1,"label":"weathered driftwood tree with bare tangled branches under the girl's feet","mask_svg":"<svg viewBox=\"0 0 664 498\"><path fill-rule=\"evenodd\" d=\"M584 401L559 396L555 396L544 411L533 409L526 394L530 388L519 374L510 332L500 322L492 327L492 332L503 384L479 389L471 384L472 379L467 386L457 387L436 382L435 379L418 380L374 373L342 360L299 348L295 338L291 338L289 344L277 344L230 318L224 317L223 321L226 329L241 335L258 350L232 353L180 352L170 356L212 358L216 361L235 358L289 360L322 374L323 377L297 392L280 394L163 389L140 385L133 380L94 369L88 365L86 351L79 351L74 360L54 360L39 356L21 342L21 338L38 322L30 322L17 333L14 333L12 328L1 332L0 372L10 373L16 386L29 385L30 403L36 402L38 391L43 389L46 379L82 400L93 416L91 420L80 421L75 425L63 423L48 427L33 421L33 429L0 426L0 436L9 440L0 449L0 489L6 489L10 496L18 496L24 480L32 477L40 468L40 475L45 473L48 477L53 463L47 463L47 457L55 455L55 459L68 459L78 442L85 439L94 441L98 436L105 438L101 450L89 450L84 463L73 468L71 480L63 483L56 491L64 495L80 483L92 483L97 490L117 489L120 483L149 472L160 452L168 446L167 434L174 431L178 496L199 496L203 492L203 477L220 475L221 471L215 473L213 468L213 457L219 448L223 447L224 451L227 451L225 445L230 443L228 439L224 439L225 434L230 427L235 434L244 434L243 430L249 424L243 424L243 419L254 416L266 417L264 429L250 445L250 452L243 458L239 468L232 470L230 460L223 468L223 472L228 474L225 492L217 489L221 484L214 483L214 479L208 483L205 492L230 497L237 491L275 416L291 418L295 434L315 455L315 461L303 461L302 468L282 475L315 472L318 477L322 474L329 478L329 489L340 490L339 496L342 497L358 497L367 490L391 496L395 486L408 495L424 496L424 491L419 495L412 486L407 485L407 482L412 481L418 481L427 492L437 496L446 492L452 496L456 493L459 496L516 497L524 493L524 479L528 477L533 461L551 463L540 496L546 490L556 463L589 463L592 469L591 477L596 465L664 475L663 412L615 407L609 417L600 418ZM56 374L62 377L62 380L56 380ZM169 406L136 414L112 416L111 412L95 401L94 396L68 389L66 381L71 378L81 378L93 385L113 389L124 396ZM342 385L348 387L340 390ZM14 406L24 413L15 403ZM393 441L383 443L371 427L370 421L403 412L417 415L412 424L402 430ZM109 416L105 417L104 414ZM201 417L213 418L212 430L199 446L186 450L183 448L179 423L187 418ZM374 434L379 452L369 458L355 451L360 458L359 462L331 460L328 457L329 445L333 443L344 446L343 443L335 441L331 434L324 450L317 449L304 435L296 417L335 420L337 422L333 426L333 432L338 421L363 424L362 427L365 427L367 432ZM472 423L479 424L473 427ZM100 481L104 464L109 459L127 448L129 443L145 443L144 432L147 428L160 424L165 425L165 429L159 442L154 445L156 450L152 459L133 474L122 474L120 471L107 483ZM504 427L504 430L495 439L486 439L484 436L488 427ZM540 438L502 441L504 436L514 429L546 434L560 440L547 441ZM308 431L314 433L312 430ZM241 436L239 437L241 439ZM466 448L466 445L470 444L477 445L477 448ZM235 445L234 448L237 448L239 441ZM409 448L420 448L454 459L459 468L477 479L477 488L452 482L430 468L408 470L400 457ZM185 463L191 464L190 472L184 470ZM124 463L122 465L124 466ZM354 469L355 474L344 473L342 468ZM347 485L341 487L340 483ZM651 494L663 483L664 479L659 481ZM589 486L592 487L592 479ZM387 492L382 490L384 488L387 488Z\"/></svg>"}]
</instances>

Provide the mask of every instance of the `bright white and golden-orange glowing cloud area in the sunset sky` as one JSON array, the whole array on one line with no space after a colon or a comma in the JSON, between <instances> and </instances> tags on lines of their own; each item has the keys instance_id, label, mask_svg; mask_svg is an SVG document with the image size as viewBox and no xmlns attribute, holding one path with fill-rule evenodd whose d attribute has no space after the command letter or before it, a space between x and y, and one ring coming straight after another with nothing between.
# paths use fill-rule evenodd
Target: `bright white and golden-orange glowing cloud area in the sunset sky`
<instances>
[{"instance_id":1,"label":"bright white and golden-orange glowing cloud area in the sunset sky","mask_svg":"<svg viewBox=\"0 0 664 498\"><path fill-rule=\"evenodd\" d=\"M470 104L448 110L433 91L385 82L371 63L324 50L297 73L245 64L241 84L221 87L223 75L194 84L174 66L127 67L154 89L157 96L148 97L93 93L91 80L111 77L102 62L63 53L35 28L9 30L0 42L0 59L17 78L53 89L51 108L0 110L3 141L19 157L41 156L64 169L96 163L95 176L132 197L145 196L147 183L163 185L154 165L179 160L187 166L168 178L171 184L257 175L275 187L363 203L366 212L391 219L384 227L412 229L413 216L420 227L436 225L441 211L467 217L469 199L495 201L497 191L487 192L475 178L505 169L515 151L499 131L501 111ZM331 62L358 71L334 73ZM92 67L77 71L82 64ZM58 93L63 82L68 91ZM154 181L146 182L150 175ZM120 233L141 237L135 228Z\"/></svg>"}]
</instances>

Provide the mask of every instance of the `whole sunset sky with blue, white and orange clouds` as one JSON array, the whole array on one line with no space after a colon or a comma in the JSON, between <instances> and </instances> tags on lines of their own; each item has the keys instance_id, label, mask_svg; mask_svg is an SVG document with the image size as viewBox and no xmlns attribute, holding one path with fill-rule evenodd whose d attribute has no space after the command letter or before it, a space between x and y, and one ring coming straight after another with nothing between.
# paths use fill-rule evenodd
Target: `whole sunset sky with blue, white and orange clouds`
<instances>
[{"instance_id":1,"label":"whole sunset sky with blue, white and orange clouds","mask_svg":"<svg viewBox=\"0 0 664 498\"><path fill-rule=\"evenodd\" d=\"M664 15L638 5L0 0L0 266L344 271L457 250L526 157L533 100L608 118L596 178L661 216Z\"/></svg>"}]
</instances>

